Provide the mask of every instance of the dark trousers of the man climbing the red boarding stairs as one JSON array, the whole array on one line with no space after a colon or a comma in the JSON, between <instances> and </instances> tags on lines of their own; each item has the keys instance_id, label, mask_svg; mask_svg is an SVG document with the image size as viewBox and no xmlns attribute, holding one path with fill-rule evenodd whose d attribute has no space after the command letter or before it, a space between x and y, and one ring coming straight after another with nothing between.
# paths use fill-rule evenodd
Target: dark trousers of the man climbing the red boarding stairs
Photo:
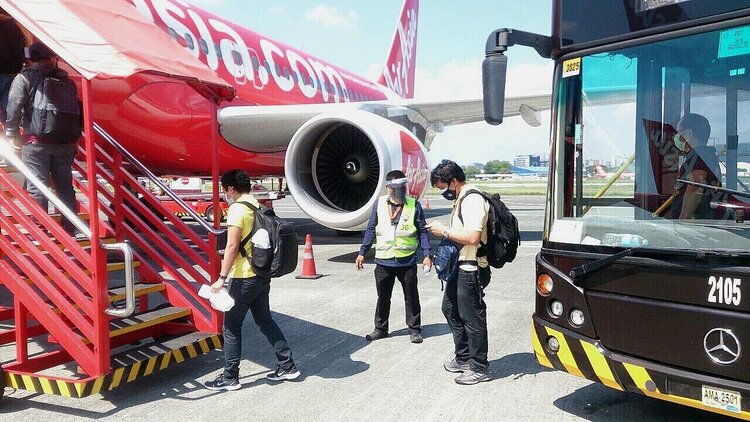
<instances>
[{"instance_id":1,"label":"dark trousers of the man climbing the red boarding stairs","mask_svg":"<svg viewBox=\"0 0 750 422\"><path fill-rule=\"evenodd\" d=\"M26 144L21 150L24 164L46 186L54 189L55 194L73 212L78 211L76 193L73 190L73 159L78 152L78 143L72 144ZM50 186L50 183L52 186ZM29 195L47 212L48 201L32 183L26 182ZM73 233L75 226L66 218L62 226L68 233Z\"/></svg>"}]
</instances>

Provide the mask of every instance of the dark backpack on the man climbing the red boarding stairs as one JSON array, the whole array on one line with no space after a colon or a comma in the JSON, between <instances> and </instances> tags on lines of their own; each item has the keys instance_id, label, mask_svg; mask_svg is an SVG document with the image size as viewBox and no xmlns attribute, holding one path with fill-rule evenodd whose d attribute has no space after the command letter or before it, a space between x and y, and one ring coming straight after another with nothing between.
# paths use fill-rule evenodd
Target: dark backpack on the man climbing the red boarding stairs
<instances>
[{"instance_id":1,"label":"dark backpack on the man climbing the red boarding stairs","mask_svg":"<svg viewBox=\"0 0 750 422\"><path fill-rule=\"evenodd\" d=\"M27 72L38 72L30 69ZM29 132L51 143L70 143L81 137L81 106L75 83L65 76L42 77L29 92Z\"/></svg>"}]
</instances>

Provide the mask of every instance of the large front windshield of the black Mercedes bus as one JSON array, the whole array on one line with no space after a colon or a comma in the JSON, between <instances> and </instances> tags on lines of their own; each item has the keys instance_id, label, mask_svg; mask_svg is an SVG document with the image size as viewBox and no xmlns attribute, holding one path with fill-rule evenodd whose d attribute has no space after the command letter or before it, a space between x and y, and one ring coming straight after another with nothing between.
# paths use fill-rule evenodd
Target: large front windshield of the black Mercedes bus
<instances>
[{"instance_id":1,"label":"large front windshield of the black Mercedes bus","mask_svg":"<svg viewBox=\"0 0 750 422\"><path fill-rule=\"evenodd\" d=\"M549 241L750 250L750 26L560 64Z\"/></svg>"}]
</instances>

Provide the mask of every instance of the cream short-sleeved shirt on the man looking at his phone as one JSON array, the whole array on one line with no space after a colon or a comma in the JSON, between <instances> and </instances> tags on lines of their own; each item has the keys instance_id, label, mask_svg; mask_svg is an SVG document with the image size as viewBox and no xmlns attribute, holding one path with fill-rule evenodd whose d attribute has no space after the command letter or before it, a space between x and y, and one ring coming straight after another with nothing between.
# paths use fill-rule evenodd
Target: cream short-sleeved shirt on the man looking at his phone
<instances>
[{"instance_id":1,"label":"cream short-sleeved shirt on the man looking at his phone","mask_svg":"<svg viewBox=\"0 0 750 422\"><path fill-rule=\"evenodd\" d=\"M461 193L456 198L456 202L453 204L453 210L451 211L451 229L463 229L466 231L481 231L482 243L487 243L487 213L489 211L489 205L484 200L482 195L471 194L461 202L461 198L466 195L466 192L470 190L479 190L474 185L465 184L461 188ZM461 202L461 216L463 217L463 224L461 219L458 218L458 203ZM464 245L461 248L458 255L460 261L477 261L480 267L487 266L487 259L485 257L477 257L477 249L479 245ZM464 271L476 271L476 265L461 264L459 266Z\"/></svg>"}]
</instances>

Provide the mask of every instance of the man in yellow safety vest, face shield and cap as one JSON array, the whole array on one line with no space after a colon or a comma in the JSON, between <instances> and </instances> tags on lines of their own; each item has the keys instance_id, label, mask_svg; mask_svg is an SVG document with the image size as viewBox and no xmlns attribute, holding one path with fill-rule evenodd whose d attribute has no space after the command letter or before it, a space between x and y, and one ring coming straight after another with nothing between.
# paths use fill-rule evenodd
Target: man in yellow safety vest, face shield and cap
<instances>
[{"instance_id":1,"label":"man in yellow safety vest, face shield and cap","mask_svg":"<svg viewBox=\"0 0 750 422\"><path fill-rule=\"evenodd\" d=\"M368 341L388 337L391 294L398 278L404 291L410 340L412 343L422 342L422 308L417 291L417 250L422 249L425 272L432 268L432 260L424 211L419 201L406 194L407 185L408 180L401 170L393 170L386 175L388 195L380 197L373 206L355 261L357 270L361 270L365 254L375 243L375 288L378 302L375 307L375 330L365 336Z\"/></svg>"}]
</instances>

